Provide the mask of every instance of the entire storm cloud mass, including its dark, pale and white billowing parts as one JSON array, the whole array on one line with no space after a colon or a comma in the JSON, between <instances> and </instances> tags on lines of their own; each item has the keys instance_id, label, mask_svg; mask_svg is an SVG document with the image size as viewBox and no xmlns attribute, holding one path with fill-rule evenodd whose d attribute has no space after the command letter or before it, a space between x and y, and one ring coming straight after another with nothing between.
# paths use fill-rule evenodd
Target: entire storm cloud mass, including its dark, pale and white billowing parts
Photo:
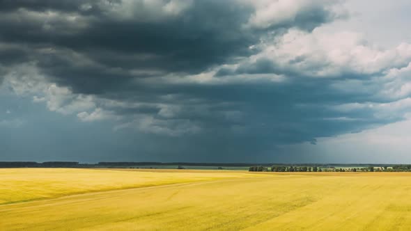
<instances>
[{"instance_id":1,"label":"entire storm cloud mass, including its dark, pale and white billowing parts","mask_svg":"<svg viewBox=\"0 0 411 231\"><path fill-rule=\"evenodd\" d=\"M411 45L322 30L350 17L342 3L4 0L0 83L162 144L136 153L269 157L407 116Z\"/></svg>"}]
</instances>

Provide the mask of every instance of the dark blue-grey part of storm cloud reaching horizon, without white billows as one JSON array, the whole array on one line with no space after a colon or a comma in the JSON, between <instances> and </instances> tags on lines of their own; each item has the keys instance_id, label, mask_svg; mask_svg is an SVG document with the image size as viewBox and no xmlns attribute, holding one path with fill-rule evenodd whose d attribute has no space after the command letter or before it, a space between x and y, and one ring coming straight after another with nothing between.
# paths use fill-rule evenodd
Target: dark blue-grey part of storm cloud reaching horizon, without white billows
<instances>
[{"instance_id":1,"label":"dark blue-grey part of storm cloud reaching horizon, without white billows","mask_svg":"<svg viewBox=\"0 0 411 231\"><path fill-rule=\"evenodd\" d=\"M121 118L118 127L144 136L137 150L167 161L249 161L277 145L315 144L317 137L399 120L376 118L369 109L333 109L378 100L334 86L364 74L310 78L293 68L310 59L304 55L286 67L269 58L247 62L264 40L332 21L337 16L329 8L317 3L284 22L253 26L257 10L244 2L0 1L0 62L31 63L48 83L93 96L96 107ZM167 11L168 3L175 5ZM196 81L195 74L212 70L221 82ZM258 74L286 79L252 79Z\"/></svg>"}]
</instances>

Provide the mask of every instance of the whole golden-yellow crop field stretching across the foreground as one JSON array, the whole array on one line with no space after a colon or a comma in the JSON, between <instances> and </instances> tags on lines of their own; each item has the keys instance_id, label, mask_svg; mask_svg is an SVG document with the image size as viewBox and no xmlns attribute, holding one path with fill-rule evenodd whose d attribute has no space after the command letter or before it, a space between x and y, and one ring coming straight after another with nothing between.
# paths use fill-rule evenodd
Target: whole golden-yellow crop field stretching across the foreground
<instances>
[{"instance_id":1,"label":"whole golden-yellow crop field stretching across the foreground","mask_svg":"<svg viewBox=\"0 0 411 231\"><path fill-rule=\"evenodd\" d=\"M410 173L0 169L0 230L410 230Z\"/></svg>"}]
</instances>

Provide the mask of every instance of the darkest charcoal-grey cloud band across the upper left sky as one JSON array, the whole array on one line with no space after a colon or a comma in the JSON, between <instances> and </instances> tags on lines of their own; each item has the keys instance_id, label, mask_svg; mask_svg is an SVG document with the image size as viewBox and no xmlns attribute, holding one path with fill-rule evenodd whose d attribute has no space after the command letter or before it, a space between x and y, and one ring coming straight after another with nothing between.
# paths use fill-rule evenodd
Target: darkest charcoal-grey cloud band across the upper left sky
<instances>
[{"instance_id":1,"label":"darkest charcoal-grey cloud band across the upper left sky","mask_svg":"<svg viewBox=\"0 0 411 231\"><path fill-rule=\"evenodd\" d=\"M139 17L138 12L125 19L114 13L82 16L77 15L81 13L79 3L53 2L20 6L7 1L6 8L12 5L15 11L8 7L10 12L1 19L1 40L64 47L109 67L186 73L201 72L236 56L248 56L249 45L258 40L258 34L243 28L252 8L234 1L194 1L181 15L162 16L155 12L150 17L158 19L151 20ZM106 10L110 12L118 4L121 3L108 5ZM30 15L21 8L40 12ZM41 15L54 9L65 14ZM69 17L79 19L72 22Z\"/></svg>"}]
</instances>

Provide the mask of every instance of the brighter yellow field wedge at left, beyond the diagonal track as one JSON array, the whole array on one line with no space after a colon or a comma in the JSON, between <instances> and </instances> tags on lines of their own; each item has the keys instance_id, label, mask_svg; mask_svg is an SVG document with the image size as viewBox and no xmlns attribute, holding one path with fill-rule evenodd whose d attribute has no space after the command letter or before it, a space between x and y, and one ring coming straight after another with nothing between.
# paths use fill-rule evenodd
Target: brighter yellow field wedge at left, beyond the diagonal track
<instances>
[{"instance_id":1,"label":"brighter yellow field wedge at left, beyond the diagonal track","mask_svg":"<svg viewBox=\"0 0 411 231\"><path fill-rule=\"evenodd\" d=\"M233 173L97 170L73 168L0 168L0 205L79 193L243 177ZM249 174L245 175L246 177Z\"/></svg>"}]
</instances>

